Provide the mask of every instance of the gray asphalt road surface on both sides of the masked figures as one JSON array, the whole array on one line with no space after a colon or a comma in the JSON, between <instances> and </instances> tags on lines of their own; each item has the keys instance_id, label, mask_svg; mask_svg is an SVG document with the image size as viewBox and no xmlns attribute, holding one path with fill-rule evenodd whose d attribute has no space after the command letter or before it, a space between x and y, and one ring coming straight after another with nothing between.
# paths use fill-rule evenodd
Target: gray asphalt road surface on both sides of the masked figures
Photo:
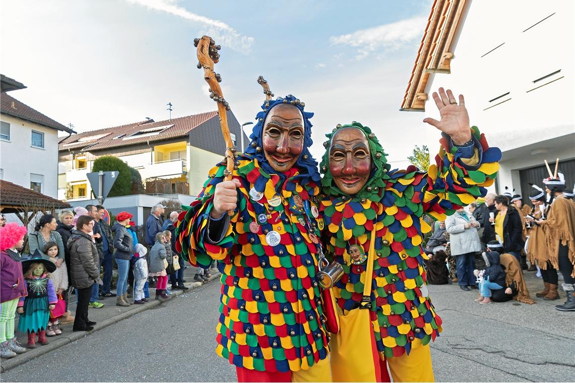
<instances>
[{"instance_id":1,"label":"gray asphalt road surface on both sides of the masked figures","mask_svg":"<svg viewBox=\"0 0 575 383\"><path fill-rule=\"evenodd\" d=\"M554 302L481 306L476 293L430 286L444 321L436 381L573 381L575 313ZM235 381L217 357L217 281L2 374L2 381ZM562 294L562 296L564 296Z\"/></svg>"}]
</instances>

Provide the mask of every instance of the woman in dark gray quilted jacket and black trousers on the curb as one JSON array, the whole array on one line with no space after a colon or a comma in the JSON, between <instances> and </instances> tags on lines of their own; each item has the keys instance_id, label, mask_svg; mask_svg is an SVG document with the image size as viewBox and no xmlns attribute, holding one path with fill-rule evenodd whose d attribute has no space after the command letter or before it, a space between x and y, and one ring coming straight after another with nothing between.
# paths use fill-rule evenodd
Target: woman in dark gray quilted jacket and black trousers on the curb
<instances>
[{"instance_id":1,"label":"woman in dark gray quilted jacket and black trousers on the curb","mask_svg":"<svg viewBox=\"0 0 575 383\"><path fill-rule=\"evenodd\" d=\"M94 219L88 215L81 215L76 227L79 230L74 230L68 239L71 284L78 289L76 318L72 330L91 331L94 330L96 322L88 320L88 305L92 285L100 283L100 257L89 234L93 230Z\"/></svg>"}]
</instances>

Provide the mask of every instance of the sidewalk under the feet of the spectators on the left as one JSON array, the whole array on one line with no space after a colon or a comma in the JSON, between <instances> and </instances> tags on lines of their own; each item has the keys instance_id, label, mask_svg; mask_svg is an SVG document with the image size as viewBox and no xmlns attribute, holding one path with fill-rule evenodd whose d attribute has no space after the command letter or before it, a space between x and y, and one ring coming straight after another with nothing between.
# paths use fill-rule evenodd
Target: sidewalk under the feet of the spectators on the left
<instances>
[{"instance_id":1,"label":"sidewalk under the feet of the spectators on the left","mask_svg":"<svg viewBox=\"0 0 575 383\"><path fill-rule=\"evenodd\" d=\"M185 294L192 289L200 287L202 285L201 282L194 281L194 275L196 274L197 268L193 266L188 266L184 270L184 279L186 283L184 284L189 290L173 290L172 295L170 296L171 301L174 297L178 295ZM205 283L211 283L214 280L219 280L220 278L219 272L212 272L212 277L210 280ZM168 289L170 289L170 284L168 283ZM115 291L113 291L115 292ZM74 325L73 322L68 324L61 325L62 327L62 334L57 336L49 336L48 345L40 345L36 343L35 349L28 349L24 354L17 355L14 358L10 359L1 359L2 364L0 366L1 372L6 372L7 370L13 369L16 366L22 365L34 358L40 357L41 355L47 354L50 351L55 349L59 349L60 347L67 345L68 343L76 342L78 339L84 338L85 336L89 336L95 331L102 330L102 328L108 327L114 323L120 322L121 320L127 319L133 315L139 314L145 310L150 310L152 308L158 307L162 304L162 301L155 300L154 297L155 289L150 289L150 301L146 304L137 305L132 304L130 307L120 307L116 305L116 297L109 297L100 300L100 303L104 303L104 307L102 308L89 308L88 314L90 320L96 322L97 324L94 326L94 330L86 332L86 331L78 331L73 332L72 326ZM133 298L130 300L133 302ZM72 312L72 315L75 314L76 311L76 296L70 296L70 303L68 304L68 310ZM169 310L169 309L168 309ZM16 314L16 323L15 327L18 327L18 314ZM16 330L14 334L17 336L18 342L22 345L22 347L26 347L26 343L28 342L28 338L26 334L22 334L22 332Z\"/></svg>"}]
</instances>

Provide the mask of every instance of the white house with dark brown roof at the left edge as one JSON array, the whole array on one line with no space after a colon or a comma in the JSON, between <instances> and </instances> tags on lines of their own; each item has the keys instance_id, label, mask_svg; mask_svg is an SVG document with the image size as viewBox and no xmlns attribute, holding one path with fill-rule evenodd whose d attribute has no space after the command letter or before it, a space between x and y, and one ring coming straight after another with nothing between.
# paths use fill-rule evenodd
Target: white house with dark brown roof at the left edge
<instances>
[{"instance_id":1,"label":"white house with dark brown roof at the left edge","mask_svg":"<svg viewBox=\"0 0 575 383\"><path fill-rule=\"evenodd\" d=\"M7 94L24 84L5 75L0 83L0 179L56 198L58 131L75 132Z\"/></svg>"}]
</instances>

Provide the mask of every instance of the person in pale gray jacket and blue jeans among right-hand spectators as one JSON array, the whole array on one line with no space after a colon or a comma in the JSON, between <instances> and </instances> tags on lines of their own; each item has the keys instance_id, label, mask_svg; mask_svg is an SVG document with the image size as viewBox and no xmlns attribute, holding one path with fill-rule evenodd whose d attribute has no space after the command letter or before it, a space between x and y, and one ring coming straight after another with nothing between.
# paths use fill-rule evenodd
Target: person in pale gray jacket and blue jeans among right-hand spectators
<instances>
[{"instance_id":1,"label":"person in pale gray jacket and blue jeans among right-hand spectators","mask_svg":"<svg viewBox=\"0 0 575 383\"><path fill-rule=\"evenodd\" d=\"M481 242L477 234L479 222L463 208L445 220L445 230L450 234L451 255L455 257L457 265L457 279L462 290L477 289L476 278L473 275L475 268L475 254L481 251Z\"/></svg>"}]
</instances>

